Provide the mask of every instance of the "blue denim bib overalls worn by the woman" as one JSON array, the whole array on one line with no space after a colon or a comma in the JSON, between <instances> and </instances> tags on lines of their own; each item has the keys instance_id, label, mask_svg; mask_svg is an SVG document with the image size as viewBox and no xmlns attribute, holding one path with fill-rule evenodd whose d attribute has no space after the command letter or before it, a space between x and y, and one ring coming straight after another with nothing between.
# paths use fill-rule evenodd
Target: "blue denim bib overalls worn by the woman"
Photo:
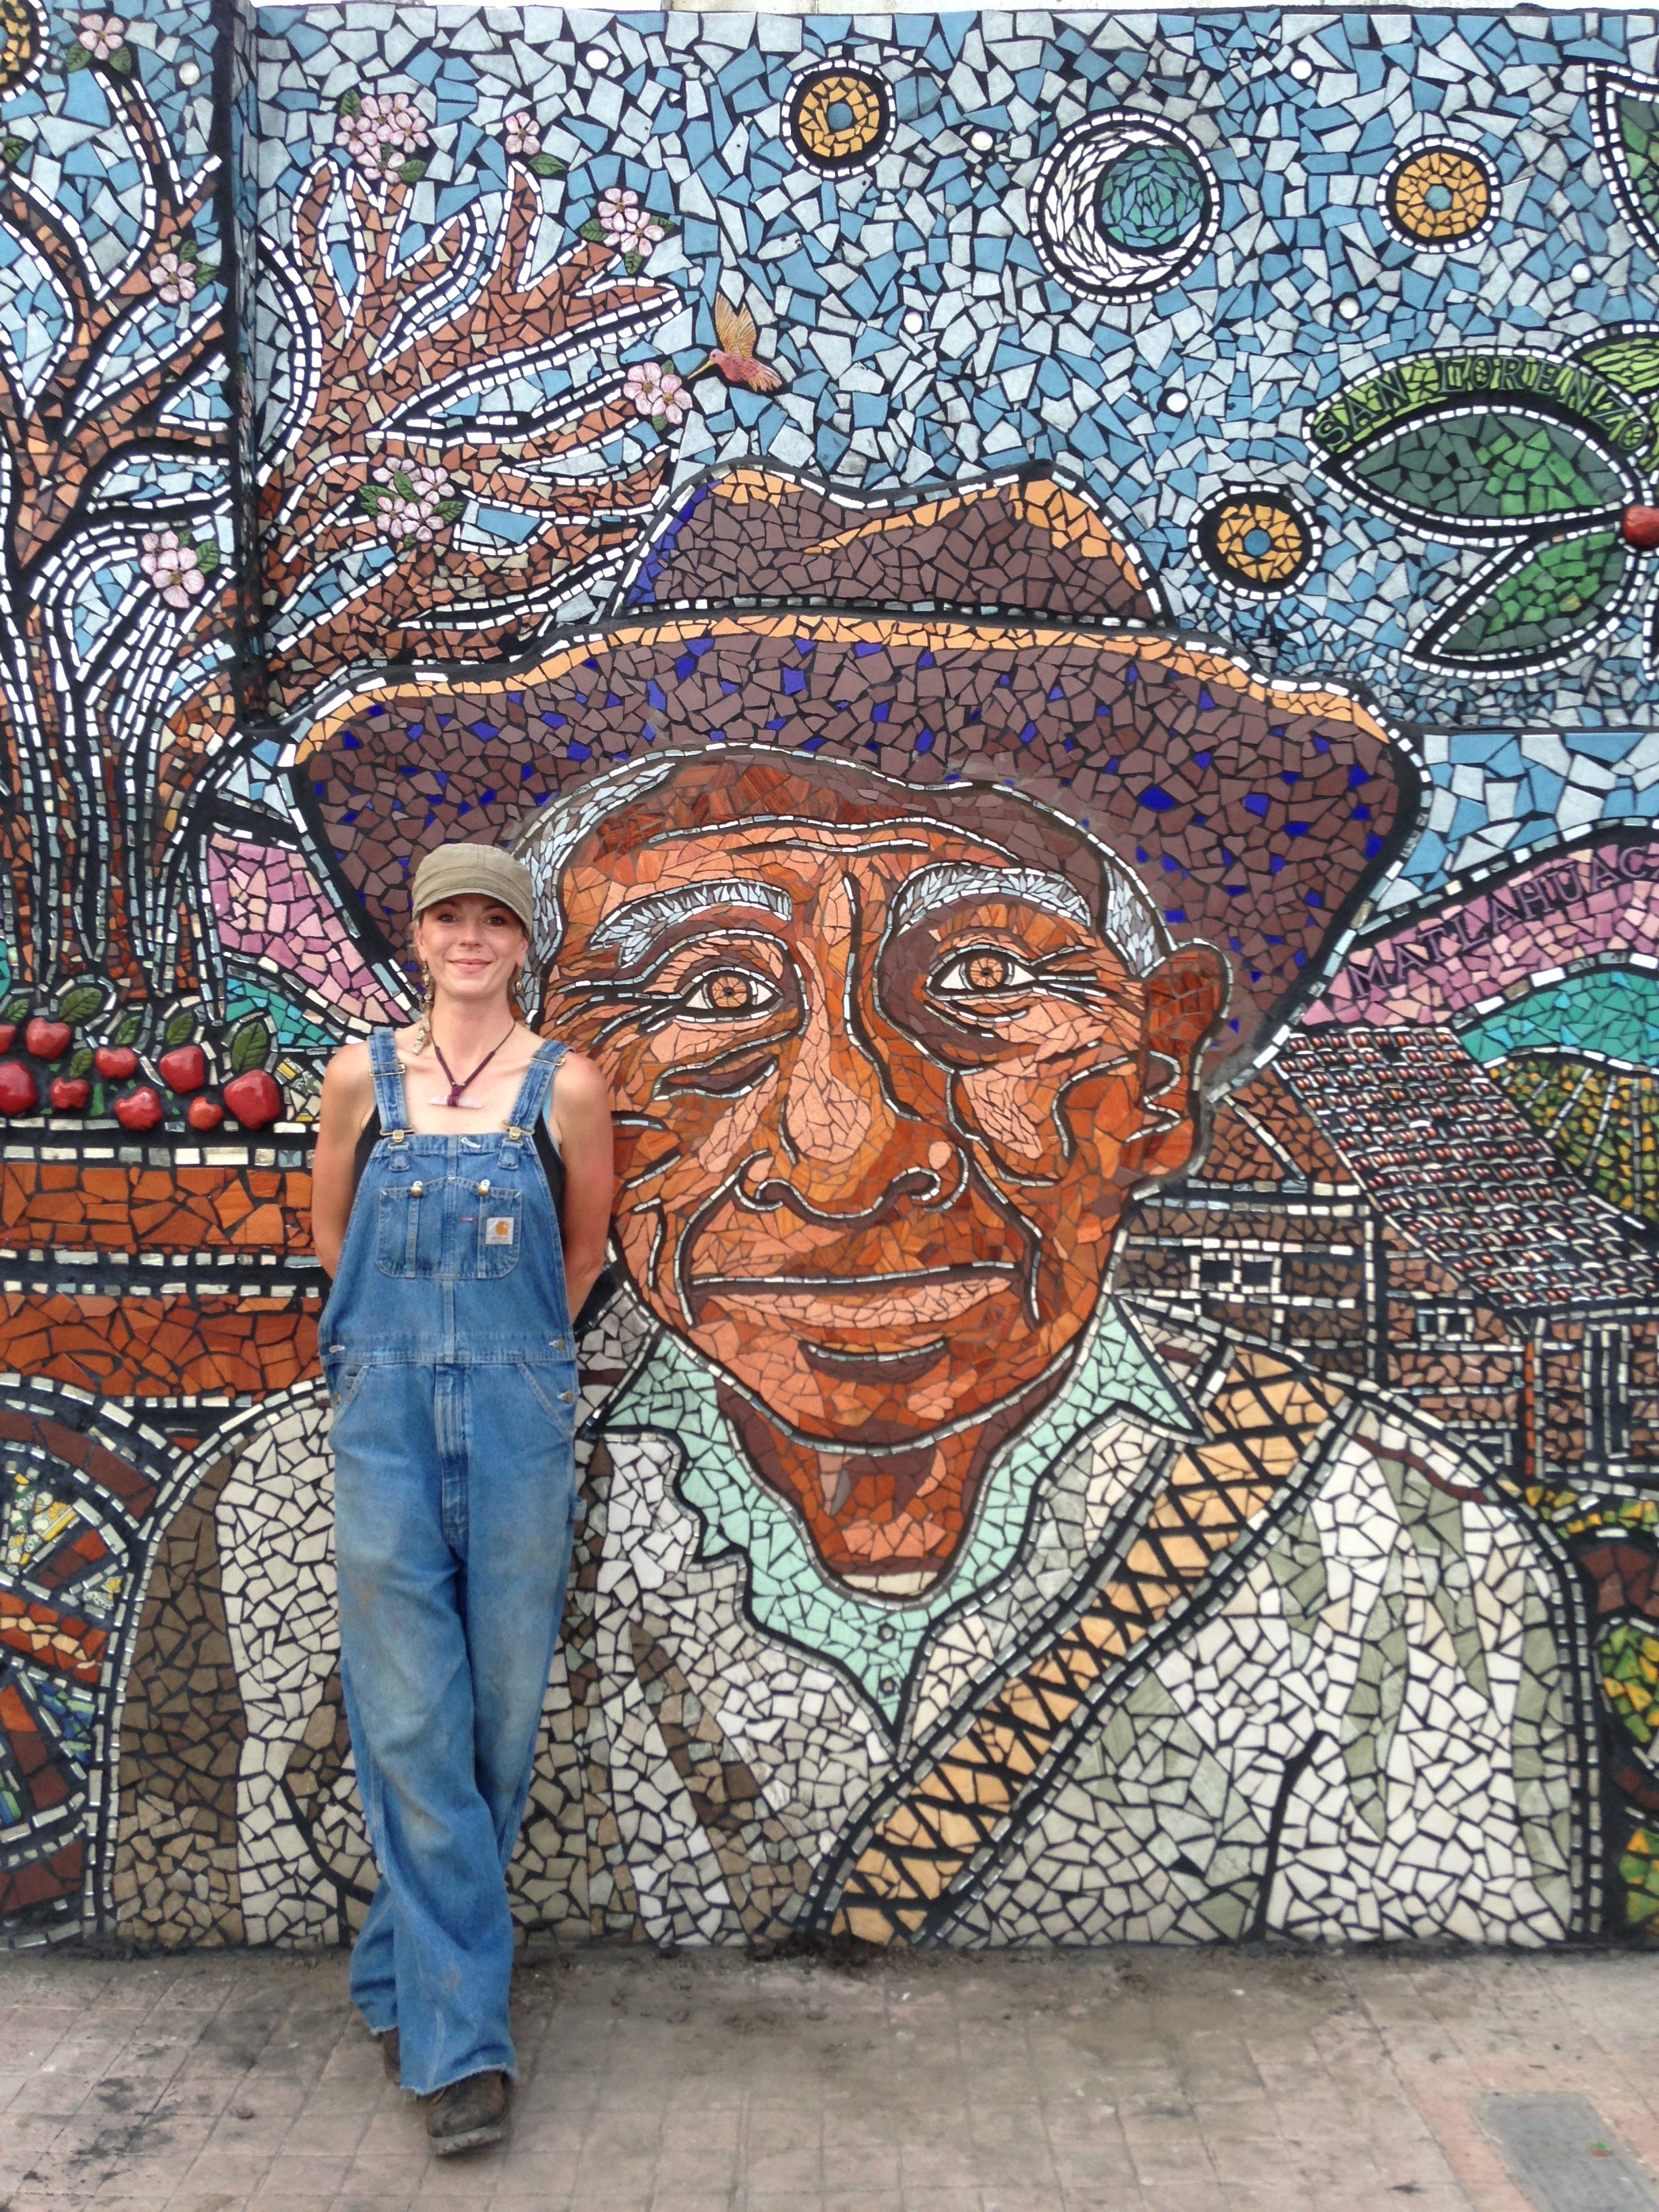
<instances>
[{"instance_id":1,"label":"blue denim bib overalls worn by the woman","mask_svg":"<svg viewBox=\"0 0 1659 2212\"><path fill-rule=\"evenodd\" d=\"M562 1044L507 1130L416 1137L389 1029L383 1137L321 1323L334 1398L341 1672L380 1887L352 2000L403 2086L515 2070L518 1838L575 1520L575 1345L535 1157Z\"/></svg>"}]
</instances>

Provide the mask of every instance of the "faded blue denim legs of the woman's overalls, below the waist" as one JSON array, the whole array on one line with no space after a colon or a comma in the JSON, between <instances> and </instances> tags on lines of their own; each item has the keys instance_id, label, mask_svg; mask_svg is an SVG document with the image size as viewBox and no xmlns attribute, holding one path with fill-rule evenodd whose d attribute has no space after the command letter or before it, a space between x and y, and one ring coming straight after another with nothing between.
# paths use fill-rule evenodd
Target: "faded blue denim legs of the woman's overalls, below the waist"
<instances>
[{"instance_id":1,"label":"faded blue denim legs of the woman's overalls, below the waist","mask_svg":"<svg viewBox=\"0 0 1659 2212\"><path fill-rule=\"evenodd\" d=\"M352 1955L369 2028L420 2095L515 2070L502 1871L564 1606L568 1383L372 1367L336 1420L347 1717L383 1869Z\"/></svg>"}]
</instances>

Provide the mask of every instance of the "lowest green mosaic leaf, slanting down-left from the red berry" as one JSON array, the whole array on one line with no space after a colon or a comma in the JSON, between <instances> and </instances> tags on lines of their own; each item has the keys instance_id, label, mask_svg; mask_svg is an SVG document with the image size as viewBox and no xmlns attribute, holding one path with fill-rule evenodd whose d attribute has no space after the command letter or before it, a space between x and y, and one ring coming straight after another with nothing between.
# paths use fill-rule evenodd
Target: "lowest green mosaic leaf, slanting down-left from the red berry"
<instances>
[{"instance_id":1,"label":"lowest green mosaic leaf, slanting down-left from the red berry","mask_svg":"<svg viewBox=\"0 0 1659 2212\"><path fill-rule=\"evenodd\" d=\"M1571 531L1480 571L1411 641L1436 668L1535 668L1577 653L1619 613L1637 555L1617 529Z\"/></svg>"}]
</instances>

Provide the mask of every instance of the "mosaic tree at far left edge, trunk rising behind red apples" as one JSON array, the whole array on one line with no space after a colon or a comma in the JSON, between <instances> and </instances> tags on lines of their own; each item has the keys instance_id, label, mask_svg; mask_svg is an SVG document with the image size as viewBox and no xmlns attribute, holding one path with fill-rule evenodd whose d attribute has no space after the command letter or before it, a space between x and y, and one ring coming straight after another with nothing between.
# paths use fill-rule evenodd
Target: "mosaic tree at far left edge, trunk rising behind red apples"
<instances>
[{"instance_id":1,"label":"mosaic tree at far left edge, trunk rising behind red apples","mask_svg":"<svg viewBox=\"0 0 1659 2212\"><path fill-rule=\"evenodd\" d=\"M18 80L13 15L0 86ZM0 352L0 843L24 975L106 969L142 989L170 900L148 872L157 799L177 781L161 728L168 681L226 630L226 588L212 582L223 425L190 403L223 343L215 268L197 241L217 161L179 175L117 15L82 15L64 69L97 77L139 188L124 195L122 261L104 272L60 195L33 181L27 142L4 142L0 223L44 268L62 336L33 383ZM197 465L192 489L157 511L142 480L168 462ZM131 586L122 619L88 641L77 595L97 571Z\"/></svg>"}]
</instances>

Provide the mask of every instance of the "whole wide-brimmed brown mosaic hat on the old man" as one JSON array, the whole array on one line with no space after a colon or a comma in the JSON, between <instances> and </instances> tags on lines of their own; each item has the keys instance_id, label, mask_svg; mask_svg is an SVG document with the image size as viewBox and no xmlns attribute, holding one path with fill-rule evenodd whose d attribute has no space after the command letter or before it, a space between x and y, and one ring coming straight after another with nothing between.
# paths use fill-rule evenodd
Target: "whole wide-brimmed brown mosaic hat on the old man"
<instances>
[{"instance_id":1,"label":"whole wide-brimmed brown mosaic hat on the old man","mask_svg":"<svg viewBox=\"0 0 1659 2212\"><path fill-rule=\"evenodd\" d=\"M894 502L719 471L677 495L608 619L518 668L380 675L316 717L296 783L398 960L434 845L509 841L597 772L719 745L1011 781L1079 823L1175 942L1225 951L1217 1071L1316 991L1416 825L1416 770L1360 699L1177 635L1110 524L1040 469Z\"/></svg>"}]
</instances>

